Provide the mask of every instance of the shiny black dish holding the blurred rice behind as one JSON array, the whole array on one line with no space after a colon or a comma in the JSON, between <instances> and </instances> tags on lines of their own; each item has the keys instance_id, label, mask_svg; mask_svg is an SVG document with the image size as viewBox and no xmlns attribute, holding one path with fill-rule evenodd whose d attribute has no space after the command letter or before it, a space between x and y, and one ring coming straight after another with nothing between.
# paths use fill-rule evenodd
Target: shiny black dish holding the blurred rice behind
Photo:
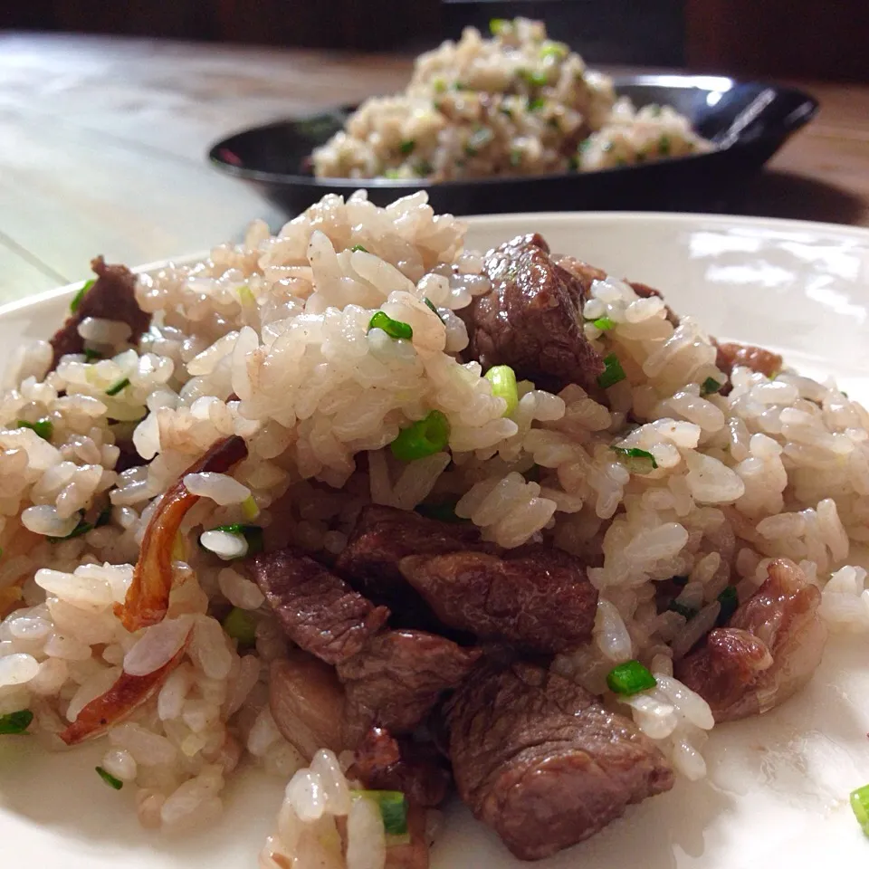
<instances>
[{"instance_id":1,"label":"shiny black dish holding the blurred rice behind","mask_svg":"<svg viewBox=\"0 0 869 869\"><path fill-rule=\"evenodd\" d=\"M616 91L636 106L673 106L718 148L708 154L598 172L479 178L429 184L387 179L315 178L301 167L312 148L341 129L352 107L246 129L209 151L216 167L257 186L291 214L327 193L360 187L387 205L420 187L437 212L455 215L591 209L711 210L726 201L795 130L814 117L817 101L802 91L719 76L616 76Z\"/></svg>"}]
</instances>

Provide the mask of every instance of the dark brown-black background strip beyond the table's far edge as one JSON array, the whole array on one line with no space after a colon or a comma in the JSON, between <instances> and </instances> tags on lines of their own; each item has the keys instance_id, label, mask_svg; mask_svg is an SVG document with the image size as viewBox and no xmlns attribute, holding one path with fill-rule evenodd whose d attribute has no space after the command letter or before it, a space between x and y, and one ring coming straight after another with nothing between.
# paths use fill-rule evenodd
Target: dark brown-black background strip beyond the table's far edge
<instances>
[{"instance_id":1,"label":"dark brown-black background strip beyond the table's far edge","mask_svg":"<svg viewBox=\"0 0 869 869\"><path fill-rule=\"evenodd\" d=\"M869 0L0 0L0 28L417 53L522 14L592 63L869 81Z\"/></svg>"}]
</instances>

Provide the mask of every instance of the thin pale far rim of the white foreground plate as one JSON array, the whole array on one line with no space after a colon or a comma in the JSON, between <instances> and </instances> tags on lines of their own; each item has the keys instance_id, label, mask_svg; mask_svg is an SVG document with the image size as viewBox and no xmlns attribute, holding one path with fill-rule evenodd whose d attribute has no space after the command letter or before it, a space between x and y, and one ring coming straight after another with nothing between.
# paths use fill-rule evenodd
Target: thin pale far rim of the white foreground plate
<instances>
[{"instance_id":1,"label":"thin pale far rim of the white foreground plate","mask_svg":"<svg viewBox=\"0 0 869 869\"><path fill-rule=\"evenodd\" d=\"M287 222L292 218L288 217ZM689 224L709 222L718 224L721 228L734 228L740 225L767 228L780 231L824 232L827 234L842 234L855 240L862 240L869 245L869 226L855 226L853 224L835 224L826 221L799 220L795 217L761 217L758 215L721 215L702 212L667 212L667 211L527 211L511 212L508 214L492 215L462 215L457 220L467 224L508 224L517 220L546 220L555 223L611 223L611 224ZM675 226L674 226L675 228ZM218 243L219 244L219 243ZM210 250L197 253L185 253L180 256L170 256L165 259L155 260L151 263L129 266L131 271L140 273L156 272L166 268L167 265L187 265L205 259L211 253ZM87 281L74 281L54 287L51 290L34 293L23 299L8 301L0 305L0 318L22 313L32 307L38 307L52 301L58 301L78 291Z\"/></svg>"}]
</instances>

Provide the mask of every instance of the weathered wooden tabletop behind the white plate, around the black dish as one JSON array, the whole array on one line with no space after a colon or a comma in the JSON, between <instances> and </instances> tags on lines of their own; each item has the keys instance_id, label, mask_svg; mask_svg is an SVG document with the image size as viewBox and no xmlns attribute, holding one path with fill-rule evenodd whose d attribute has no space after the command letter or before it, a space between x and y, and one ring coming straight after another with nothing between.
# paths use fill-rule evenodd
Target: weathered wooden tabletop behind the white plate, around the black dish
<instances>
[{"instance_id":1,"label":"weathered wooden tabletop behind the white plate, around the black dish","mask_svg":"<svg viewBox=\"0 0 869 869\"><path fill-rule=\"evenodd\" d=\"M148 263L282 215L205 162L225 133L396 91L409 62L0 34L0 302ZM869 87L800 85L823 109L752 183L746 214L869 226Z\"/></svg>"}]
</instances>

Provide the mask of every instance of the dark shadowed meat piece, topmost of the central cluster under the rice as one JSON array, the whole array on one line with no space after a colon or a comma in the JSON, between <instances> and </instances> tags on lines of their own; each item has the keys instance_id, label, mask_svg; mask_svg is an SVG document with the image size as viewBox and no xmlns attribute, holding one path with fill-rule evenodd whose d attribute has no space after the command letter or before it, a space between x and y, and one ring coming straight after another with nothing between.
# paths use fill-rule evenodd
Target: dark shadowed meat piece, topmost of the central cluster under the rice
<instances>
[{"instance_id":1,"label":"dark shadowed meat piece, topmost of the central cluster under the rice","mask_svg":"<svg viewBox=\"0 0 869 869\"><path fill-rule=\"evenodd\" d=\"M335 569L368 597L404 597L407 583L398 562L408 555L440 555L481 549L473 525L426 519L395 507L366 507Z\"/></svg>"}]
</instances>

